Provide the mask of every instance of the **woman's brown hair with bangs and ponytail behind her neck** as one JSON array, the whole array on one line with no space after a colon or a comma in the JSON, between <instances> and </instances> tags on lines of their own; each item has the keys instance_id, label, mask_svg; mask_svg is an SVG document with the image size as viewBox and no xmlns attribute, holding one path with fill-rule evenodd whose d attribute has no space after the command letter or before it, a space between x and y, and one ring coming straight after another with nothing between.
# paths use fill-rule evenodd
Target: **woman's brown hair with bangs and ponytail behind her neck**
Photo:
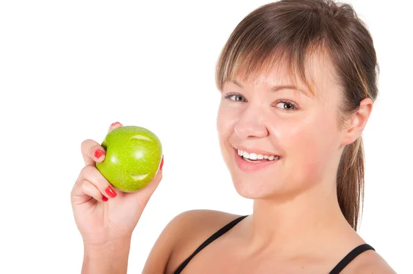
<instances>
[{"instance_id":1,"label":"woman's brown hair with bangs and ponytail behind her neck","mask_svg":"<svg viewBox=\"0 0 413 274\"><path fill-rule=\"evenodd\" d=\"M326 54L335 67L342 99L339 127L363 98L375 101L379 64L370 32L350 4L332 0L282 0L248 14L233 30L216 66L220 91L235 76L254 78L265 67L286 61L291 76L315 89L306 77L306 56ZM241 73L244 74L241 75ZM364 197L364 153L360 136L343 149L337 170L337 197L344 217L357 231Z\"/></svg>"}]
</instances>

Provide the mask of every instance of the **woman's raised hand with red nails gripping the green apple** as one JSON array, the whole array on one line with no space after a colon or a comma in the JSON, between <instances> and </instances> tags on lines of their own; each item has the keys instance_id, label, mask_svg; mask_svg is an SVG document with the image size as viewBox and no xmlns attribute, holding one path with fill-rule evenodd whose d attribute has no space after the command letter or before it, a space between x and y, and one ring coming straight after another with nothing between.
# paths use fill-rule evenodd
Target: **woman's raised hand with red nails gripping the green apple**
<instances>
[{"instance_id":1,"label":"woman's raised hand with red nails gripping the green apple","mask_svg":"<svg viewBox=\"0 0 413 274\"><path fill-rule=\"evenodd\" d=\"M109 131L121 126L120 123L114 123ZM105 149L96 141L88 139L83 141L81 151L85 167L74 184L71 201L74 220L85 244L85 253L107 252L116 249L115 246L127 246L129 253L132 231L162 179L163 156L160 170L147 187L135 193L123 193L115 191L96 169L96 162L105 159Z\"/></svg>"}]
</instances>

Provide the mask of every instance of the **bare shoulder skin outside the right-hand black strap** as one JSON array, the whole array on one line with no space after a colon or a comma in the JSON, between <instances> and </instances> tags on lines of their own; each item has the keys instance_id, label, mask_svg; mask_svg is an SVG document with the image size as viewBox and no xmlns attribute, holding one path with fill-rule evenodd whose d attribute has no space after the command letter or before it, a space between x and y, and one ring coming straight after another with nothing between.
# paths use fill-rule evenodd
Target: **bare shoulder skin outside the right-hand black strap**
<instances>
[{"instance_id":1,"label":"bare shoulder skin outside the right-hand black strap","mask_svg":"<svg viewBox=\"0 0 413 274\"><path fill-rule=\"evenodd\" d=\"M396 274L396 271L390 267L379 253L366 251L357 256L357 264L354 264L349 273Z\"/></svg>"}]
</instances>

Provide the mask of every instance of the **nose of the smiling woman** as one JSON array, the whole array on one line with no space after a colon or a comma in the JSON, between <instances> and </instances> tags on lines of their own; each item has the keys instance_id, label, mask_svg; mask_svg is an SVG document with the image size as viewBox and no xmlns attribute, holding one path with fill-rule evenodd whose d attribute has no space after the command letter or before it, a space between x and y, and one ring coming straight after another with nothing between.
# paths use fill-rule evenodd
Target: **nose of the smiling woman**
<instances>
[{"instance_id":1,"label":"nose of the smiling woman","mask_svg":"<svg viewBox=\"0 0 413 274\"><path fill-rule=\"evenodd\" d=\"M261 108L260 106L251 106L245 109L234 127L238 138L264 138L268 136L269 132L264 123L265 114Z\"/></svg>"}]
</instances>

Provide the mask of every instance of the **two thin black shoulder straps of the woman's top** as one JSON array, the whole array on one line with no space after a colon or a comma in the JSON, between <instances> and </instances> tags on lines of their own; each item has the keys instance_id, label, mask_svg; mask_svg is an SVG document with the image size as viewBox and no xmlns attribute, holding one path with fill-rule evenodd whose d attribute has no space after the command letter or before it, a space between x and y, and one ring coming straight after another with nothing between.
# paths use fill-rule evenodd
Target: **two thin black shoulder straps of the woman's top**
<instances>
[{"instance_id":1,"label":"two thin black shoulder straps of the woman's top","mask_svg":"<svg viewBox=\"0 0 413 274\"><path fill-rule=\"evenodd\" d=\"M237 224L238 222L240 222L241 220L243 220L247 216L248 215L244 215L244 216L241 216L240 218L237 218L237 219L229 222L224 227L222 227L222 229L218 230L213 235L211 235L211 237L209 237L207 240L205 240L205 242L203 242L198 247L198 249L196 249L192 253L192 255L187 258L187 260L184 260L184 262L182 262L182 264L176 269L175 274L180 274L182 272L182 270L185 268L185 266L187 266L189 261L191 261L192 258L198 252L200 252L202 249L204 249L204 247L207 246L208 244L211 244L211 242L213 242L214 240L219 238L221 235L226 233L226 231L229 231L230 229L232 229L235 226L235 224ZM340 273L343 270L343 268L345 268L355 257L357 257L359 254L363 253L364 251L368 251L369 249L372 249L372 250L375 251L375 249L373 249L372 246L370 246L369 244L361 244L361 245L357 246L352 251L350 251L345 257L343 257L343 259L334 268L332 268L332 271L330 271L329 274L338 274L338 273Z\"/></svg>"}]
</instances>

